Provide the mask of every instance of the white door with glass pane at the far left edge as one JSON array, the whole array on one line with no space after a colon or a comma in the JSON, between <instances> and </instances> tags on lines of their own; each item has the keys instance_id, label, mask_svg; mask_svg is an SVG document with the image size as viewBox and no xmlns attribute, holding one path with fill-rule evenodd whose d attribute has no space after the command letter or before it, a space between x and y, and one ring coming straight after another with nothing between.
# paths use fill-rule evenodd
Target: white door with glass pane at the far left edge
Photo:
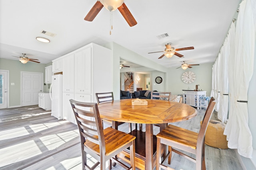
<instances>
[{"instance_id":1,"label":"white door with glass pane at the far left edge","mask_svg":"<svg viewBox=\"0 0 256 170\"><path fill-rule=\"evenodd\" d=\"M8 94L8 78L7 71L0 71L0 109L7 108Z\"/></svg>"}]
</instances>

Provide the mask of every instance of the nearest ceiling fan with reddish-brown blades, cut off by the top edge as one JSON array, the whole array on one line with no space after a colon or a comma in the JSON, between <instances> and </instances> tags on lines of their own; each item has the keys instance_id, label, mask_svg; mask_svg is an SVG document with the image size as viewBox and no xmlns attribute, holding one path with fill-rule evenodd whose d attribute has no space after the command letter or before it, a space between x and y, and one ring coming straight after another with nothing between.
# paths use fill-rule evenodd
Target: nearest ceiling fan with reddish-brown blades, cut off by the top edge
<instances>
[{"instance_id":1,"label":"nearest ceiling fan with reddish-brown blades, cut off by the top edge","mask_svg":"<svg viewBox=\"0 0 256 170\"><path fill-rule=\"evenodd\" d=\"M109 10L110 12L116 10L116 8L120 11L126 22L130 25L130 27L137 24L137 21L132 16L131 12L128 10L127 6L124 4L124 0L97 0L92 9L86 15L84 20L92 21L103 8L103 6Z\"/></svg>"}]
</instances>

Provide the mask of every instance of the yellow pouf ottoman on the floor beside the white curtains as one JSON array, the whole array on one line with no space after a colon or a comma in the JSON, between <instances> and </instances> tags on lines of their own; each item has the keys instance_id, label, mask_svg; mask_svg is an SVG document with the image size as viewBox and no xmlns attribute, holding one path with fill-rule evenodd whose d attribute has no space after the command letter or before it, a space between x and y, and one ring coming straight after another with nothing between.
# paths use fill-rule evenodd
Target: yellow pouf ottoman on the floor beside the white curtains
<instances>
[{"instance_id":1,"label":"yellow pouf ottoman on the floor beside the white curtains","mask_svg":"<svg viewBox=\"0 0 256 170\"><path fill-rule=\"evenodd\" d=\"M200 124L202 125L202 121ZM223 135L224 129L224 123L210 120L205 133L205 144L214 148L228 149L227 136Z\"/></svg>"}]
</instances>

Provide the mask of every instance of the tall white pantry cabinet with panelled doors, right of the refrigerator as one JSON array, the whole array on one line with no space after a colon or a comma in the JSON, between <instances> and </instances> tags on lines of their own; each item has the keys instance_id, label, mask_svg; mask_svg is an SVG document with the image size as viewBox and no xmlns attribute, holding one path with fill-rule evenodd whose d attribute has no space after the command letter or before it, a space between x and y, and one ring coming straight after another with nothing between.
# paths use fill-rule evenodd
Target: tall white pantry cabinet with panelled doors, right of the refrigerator
<instances>
[{"instance_id":1,"label":"tall white pantry cabinet with panelled doors, right of the refrigerator","mask_svg":"<svg viewBox=\"0 0 256 170\"><path fill-rule=\"evenodd\" d=\"M69 100L97 102L95 93L113 91L111 50L90 43L62 57L63 119L75 122Z\"/></svg>"}]
</instances>

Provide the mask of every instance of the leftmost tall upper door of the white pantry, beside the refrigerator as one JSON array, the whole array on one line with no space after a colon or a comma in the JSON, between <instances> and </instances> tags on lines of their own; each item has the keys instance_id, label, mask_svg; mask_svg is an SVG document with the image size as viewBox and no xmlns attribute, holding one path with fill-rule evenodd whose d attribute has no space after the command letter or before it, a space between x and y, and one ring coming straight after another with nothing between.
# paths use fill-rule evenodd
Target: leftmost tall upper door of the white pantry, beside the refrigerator
<instances>
[{"instance_id":1,"label":"leftmost tall upper door of the white pantry, beside the refrigerator","mask_svg":"<svg viewBox=\"0 0 256 170\"><path fill-rule=\"evenodd\" d=\"M74 92L74 54L63 58L63 92Z\"/></svg>"}]
</instances>

